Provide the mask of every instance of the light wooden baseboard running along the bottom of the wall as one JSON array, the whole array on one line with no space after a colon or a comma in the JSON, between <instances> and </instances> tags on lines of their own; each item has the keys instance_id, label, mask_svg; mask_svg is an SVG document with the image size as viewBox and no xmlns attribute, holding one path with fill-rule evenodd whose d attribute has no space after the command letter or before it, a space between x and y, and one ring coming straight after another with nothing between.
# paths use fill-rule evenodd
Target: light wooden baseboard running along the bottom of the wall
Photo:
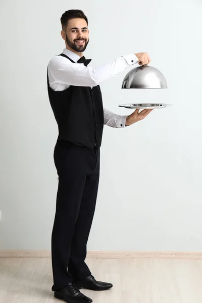
<instances>
[{"instance_id":1,"label":"light wooden baseboard running along the bottom of the wall","mask_svg":"<svg viewBox=\"0 0 202 303\"><path fill-rule=\"evenodd\" d=\"M50 250L0 250L0 258L51 258ZM174 258L202 259L198 251L107 251L89 250L87 258L121 259L121 258Z\"/></svg>"}]
</instances>

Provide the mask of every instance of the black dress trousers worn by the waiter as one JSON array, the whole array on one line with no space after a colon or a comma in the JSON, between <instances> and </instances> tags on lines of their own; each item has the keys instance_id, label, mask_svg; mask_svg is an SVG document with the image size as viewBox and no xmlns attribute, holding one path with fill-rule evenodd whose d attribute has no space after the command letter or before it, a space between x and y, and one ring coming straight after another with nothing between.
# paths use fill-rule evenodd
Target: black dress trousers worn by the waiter
<instances>
[{"instance_id":1,"label":"black dress trousers worn by the waiter","mask_svg":"<svg viewBox=\"0 0 202 303\"><path fill-rule=\"evenodd\" d=\"M91 274L85 264L99 182L99 148L58 141L54 161L59 176L52 232L52 290Z\"/></svg>"}]
</instances>

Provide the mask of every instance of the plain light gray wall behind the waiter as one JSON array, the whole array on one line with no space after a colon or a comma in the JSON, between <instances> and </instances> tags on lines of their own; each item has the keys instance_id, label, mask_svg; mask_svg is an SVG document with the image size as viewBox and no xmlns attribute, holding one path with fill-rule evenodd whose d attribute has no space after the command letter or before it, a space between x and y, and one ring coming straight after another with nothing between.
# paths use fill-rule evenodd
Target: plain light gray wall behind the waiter
<instances>
[{"instance_id":1,"label":"plain light gray wall behind the waiter","mask_svg":"<svg viewBox=\"0 0 202 303\"><path fill-rule=\"evenodd\" d=\"M98 66L148 52L167 90L101 85L108 108L164 102L127 129L105 127L92 250L202 250L201 13L199 1L1 2L0 249L51 249L58 129L46 89L48 61L65 47L60 17L89 18L85 56Z\"/></svg>"}]
</instances>

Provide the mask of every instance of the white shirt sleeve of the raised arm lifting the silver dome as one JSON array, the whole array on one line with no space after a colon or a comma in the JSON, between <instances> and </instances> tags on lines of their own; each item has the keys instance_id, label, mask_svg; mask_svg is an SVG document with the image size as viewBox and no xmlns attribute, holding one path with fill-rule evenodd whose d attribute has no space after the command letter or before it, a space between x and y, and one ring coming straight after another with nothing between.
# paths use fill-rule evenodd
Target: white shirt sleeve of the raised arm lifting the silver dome
<instances>
[{"instance_id":1,"label":"white shirt sleeve of the raised arm lifting the silver dome","mask_svg":"<svg viewBox=\"0 0 202 303\"><path fill-rule=\"evenodd\" d=\"M100 67L84 66L83 63L72 63L62 56L54 57L48 63L49 83L74 86L96 86L124 71L138 62L134 54L122 56Z\"/></svg>"}]
</instances>

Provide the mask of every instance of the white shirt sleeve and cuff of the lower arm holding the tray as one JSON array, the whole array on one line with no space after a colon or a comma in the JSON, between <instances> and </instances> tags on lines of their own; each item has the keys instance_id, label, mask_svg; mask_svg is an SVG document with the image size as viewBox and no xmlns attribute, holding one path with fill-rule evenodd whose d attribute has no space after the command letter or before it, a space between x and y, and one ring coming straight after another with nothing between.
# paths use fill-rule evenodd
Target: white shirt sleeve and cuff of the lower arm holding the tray
<instances>
[{"instance_id":1,"label":"white shirt sleeve and cuff of the lower arm holding the tray","mask_svg":"<svg viewBox=\"0 0 202 303\"><path fill-rule=\"evenodd\" d=\"M126 118L128 116L117 115L109 111L105 106L104 109L104 124L110 127L125 128Z\"/></svg>"}]
</instances>

